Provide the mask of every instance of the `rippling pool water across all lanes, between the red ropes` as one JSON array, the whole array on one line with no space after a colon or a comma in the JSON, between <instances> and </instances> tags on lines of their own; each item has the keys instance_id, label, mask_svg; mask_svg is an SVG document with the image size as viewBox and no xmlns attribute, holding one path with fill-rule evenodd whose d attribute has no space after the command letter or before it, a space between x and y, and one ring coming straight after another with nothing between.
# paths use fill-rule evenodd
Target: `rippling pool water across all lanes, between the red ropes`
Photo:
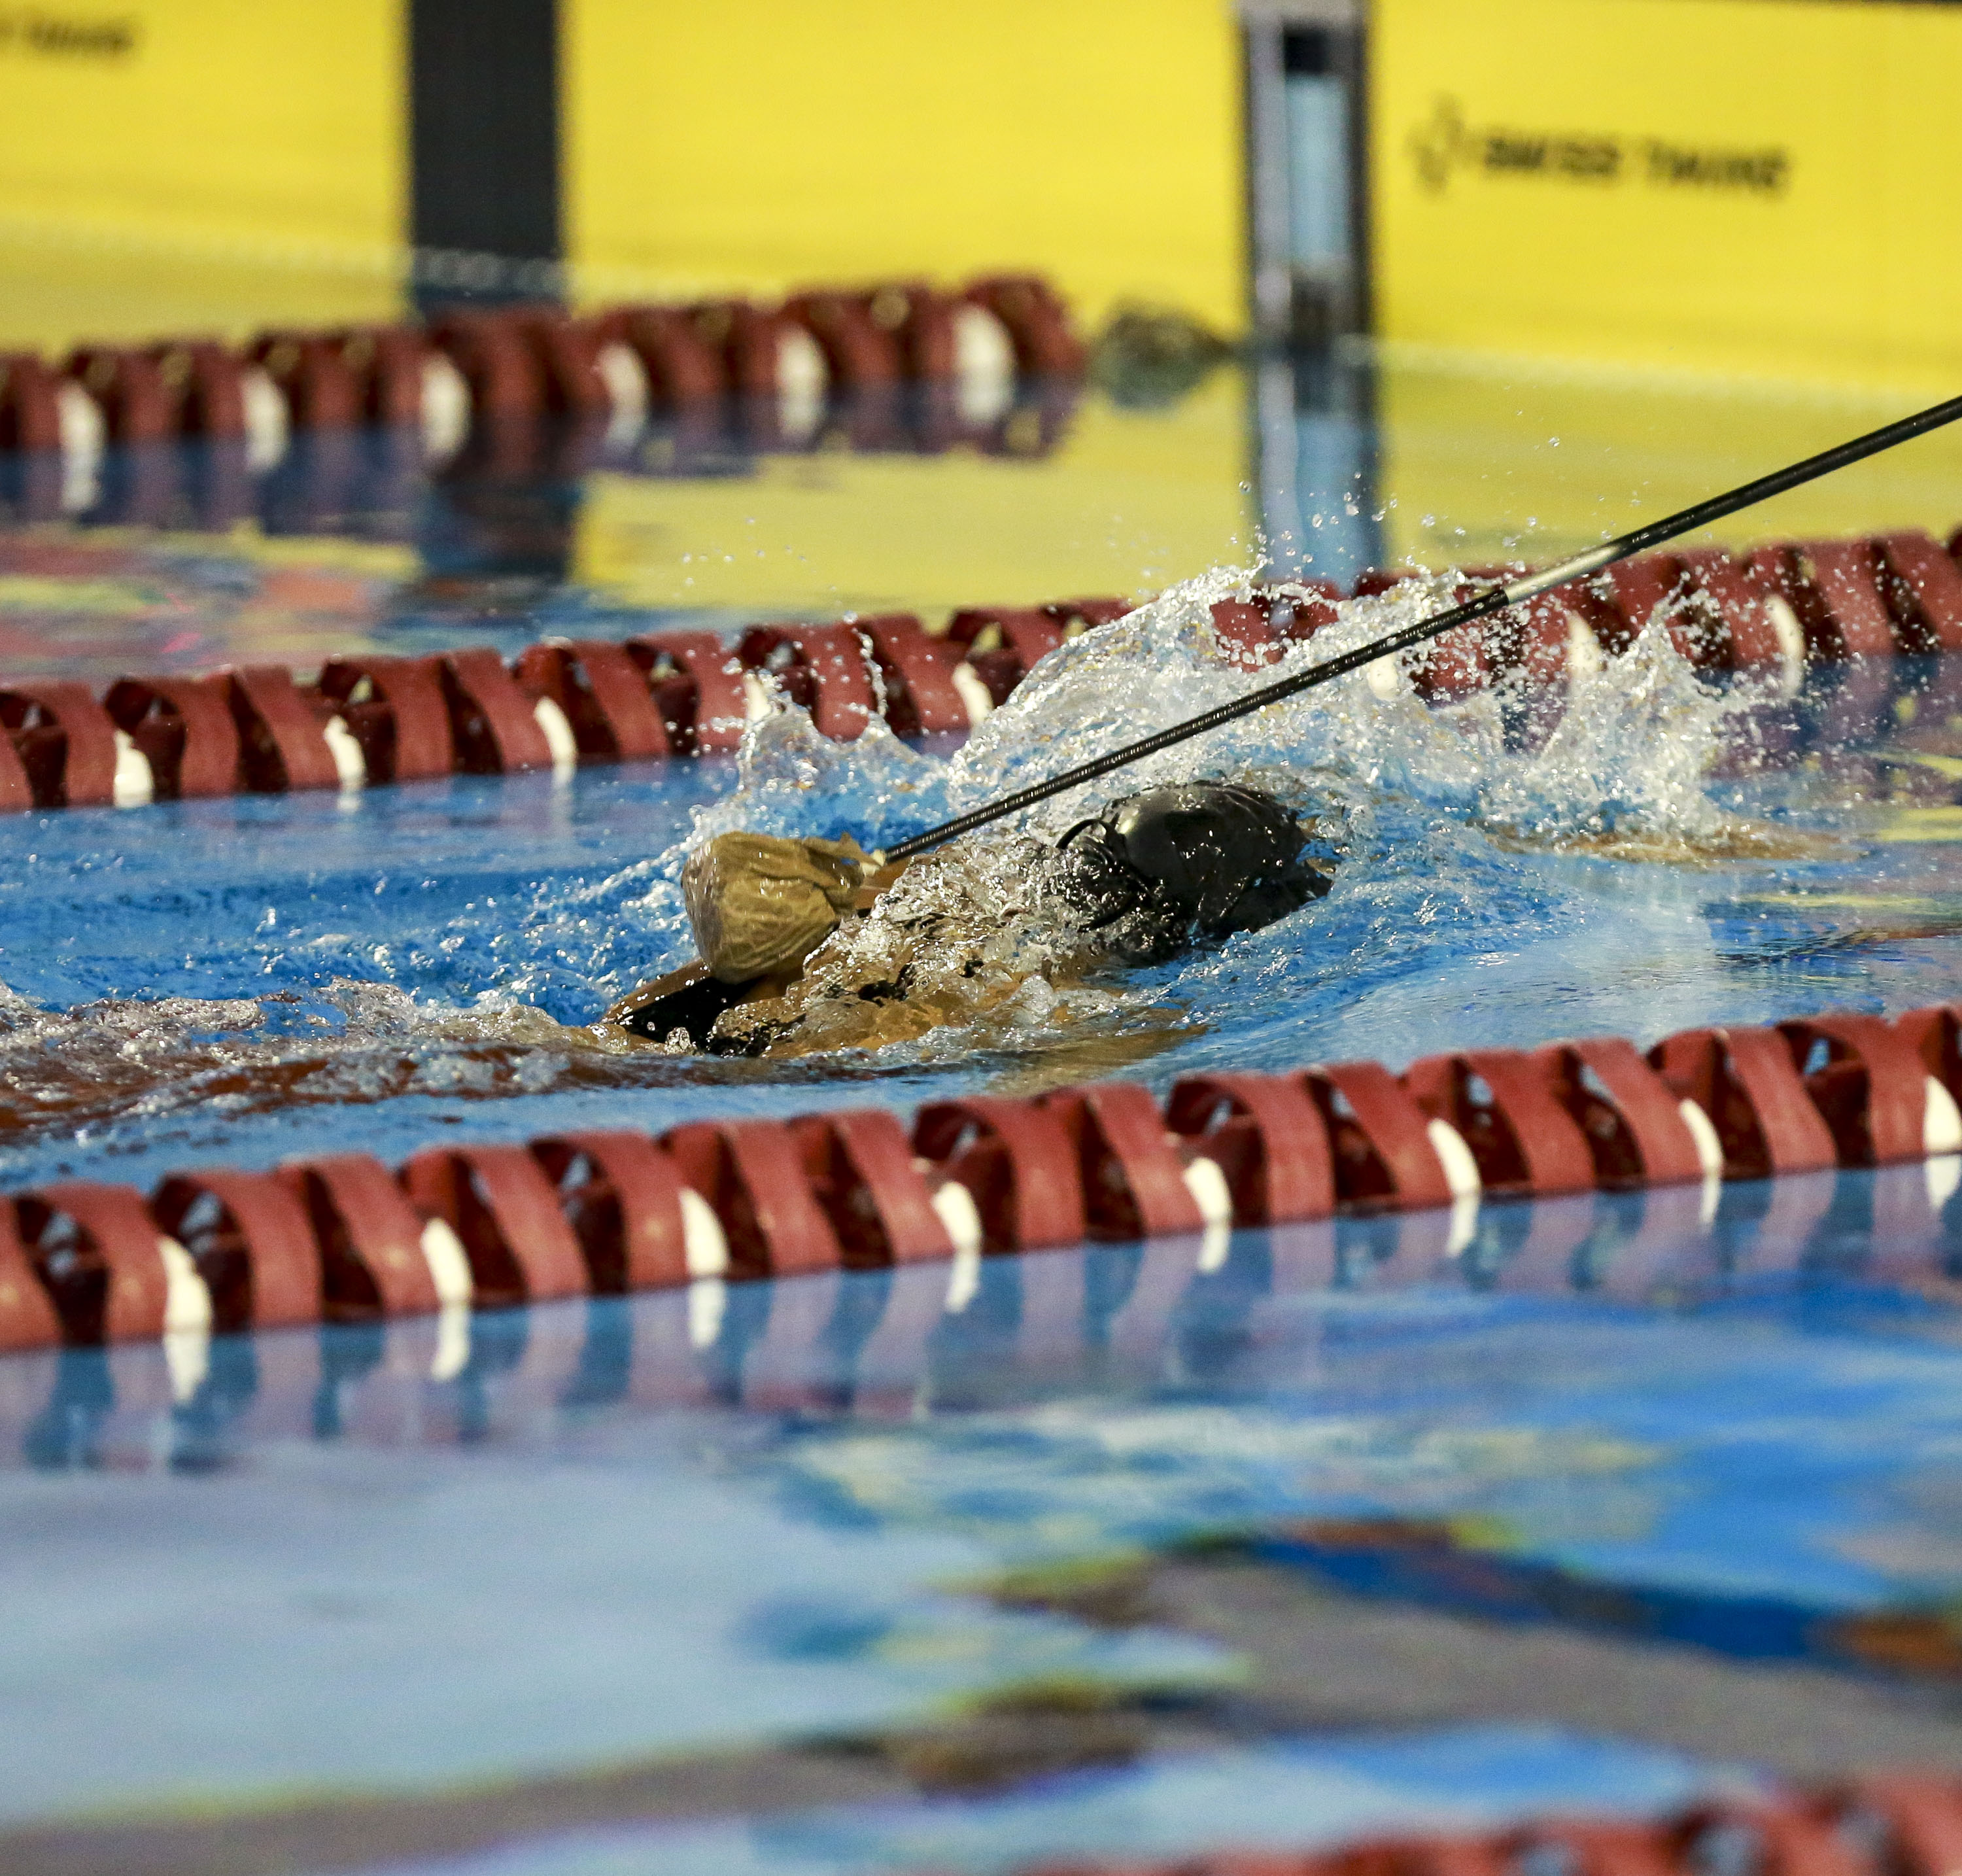
<instances>
[{"instance_id":1,"label":"rippling pool water across all lanes, between the red ropes","mask_svg":"<svg viewBox=\"0 0 1962 1876\"><path fill-rule=\"evenodd\" d=\"M475 506L436 479L392 532L334 532L316 506L318 532L263 508L243 532L104 516L0 536L12 667L90 677L1160 595L1056 653L961 750L877 726L834 746L783 712L740 759L0 822L6 1187L1109 1073L1163 1089L1646 1044L1954 995L1962 673L1897 659L1791 697L1727 691L1644 636L1575 681L1544 746L1491 699L1432 710L1407 675L1358 675L1160 757L1148 775L1252 779L1324 818L1334 891L1264 932L840 1058L669 1056L589 1028L687 956L687 842L734 824L891 842L1271 677L1205 632L1262 534L1295 571L1444 565L1452 542L1546 557L1870 420L1729 392L1699 430L1668 387L1644 402L1438 361L1281 389L1220 373L1162 410L1089 396L1026 457L642 461L512 475ZM1762 532L1946 532L1962 445L1787 502ZM1315 651L1417 604L1362 604ZM304 1854L237 1866L983 1870L1193 1847L1216 1841L1209 1815L1307 1843L1823 1768L1770 1723L1699 1731L1552 1692L1228 1723L1262 1646L999 1593L1007 1572L1203 1542L1436 1621L1589 1629L1548 1584L1613 1589L1615 1660L1713 1676L1681 1713L1764 1719L1825 1676L1860 1715L1842 1756L1952 1758L1952 1173L1487 1207L1464 1244L1438 1219L1342 1221L1003 1260L952 1291L924 1268L553 1305L461 1336L220 1338L188 1368L171 1348L0 1362L0 1711L20 1741L0 1860L141 1827L161 1835L133 1866L200 1868L190 1811L228 1829L304 1811ZM1381 1525L1360 1562L1328 1537L1344 1521ZM1477 1562L1475 1593L1420 1566L1432 1540ZM1913 1637L1905 1668L1860 1627L1882 1619ZM1136 1709L1142 1743L985 1798L834 1768L802 1807L675 1799L649 1823L600 1790L606 1768L920 1729L1028 1688ZM571 1821L500 1811L526 1780ZM424 1823L349 1850L337 1807L383 1798Z\"/></svg>"}]
</instances>

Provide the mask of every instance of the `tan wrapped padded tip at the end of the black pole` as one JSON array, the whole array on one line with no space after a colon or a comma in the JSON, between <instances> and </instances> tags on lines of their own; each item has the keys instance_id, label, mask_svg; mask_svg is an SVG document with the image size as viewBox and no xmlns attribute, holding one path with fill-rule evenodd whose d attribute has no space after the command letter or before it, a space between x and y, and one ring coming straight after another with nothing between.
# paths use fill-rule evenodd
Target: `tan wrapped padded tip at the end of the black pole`
<instances>
[{"instance_id":1,"label":"tan wrapped padded tip at the end of the black pole","mask_svg":"<svg viewBox=\"0 0 1962 1876\"><path fill-rule=\"evenodd\" d=\"M681 869L702 964L722 983L797 969L852 911L871 863L850 836L718 834Z\"/></svg>"}]
</instances>

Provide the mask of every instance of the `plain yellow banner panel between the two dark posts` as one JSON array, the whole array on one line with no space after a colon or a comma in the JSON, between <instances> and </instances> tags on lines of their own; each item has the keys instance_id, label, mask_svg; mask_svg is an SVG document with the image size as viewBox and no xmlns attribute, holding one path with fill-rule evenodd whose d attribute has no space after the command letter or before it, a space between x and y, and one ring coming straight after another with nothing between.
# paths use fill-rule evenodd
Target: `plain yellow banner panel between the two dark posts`
<instances>
[{"instance_id":1,"label":"plain yellow banner panel between the two dark posts","mask_svg":"<svg viewBox=\"0 0 1962 1876\"><path fill-rule=\"evenodd\" d=\"M1246 322L1230 0L565 0L569 259L675 290L1048 273Z\"/></svg>"}]
</instances>

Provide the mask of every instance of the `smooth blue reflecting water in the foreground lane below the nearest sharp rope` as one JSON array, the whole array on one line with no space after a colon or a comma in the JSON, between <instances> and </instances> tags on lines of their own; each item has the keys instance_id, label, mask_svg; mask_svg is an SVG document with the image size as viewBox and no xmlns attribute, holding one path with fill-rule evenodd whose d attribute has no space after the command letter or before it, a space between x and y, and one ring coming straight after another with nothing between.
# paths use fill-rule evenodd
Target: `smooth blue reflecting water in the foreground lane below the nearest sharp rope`
<instances>
[{"instance_id":1,"label":"smooth blue reflecting water in the foreground lane below the nearest sharp rope","mask_svg":"<svg viewBox=\"0 0 1962 1876\"><path fill-rule=\"evenodd\" d=\"M1242 1756L1201 1735L1026 1801L765 1805L753 1827L636 1823L624 1847L594 1799L567 1843L483 1866L693 1868L746 1841L761 1868L899 1866L899 1845L981 1870L1077 1821L1160 1847L1185 1790L1244 1788L1230 1815L1260 1841L1371 1805L1640 1809L1831 1752L1778 1717L1819 1674L1870 1754L1948 1754L1944 1172L1493 1209L1458 1254L1438 1221L1344 1223L1001 1260L971 1293L920 1266L549 1305L461 1340L406 1321L188 1364L12 1358L0 1819L86 1843L302 1807L326 1841L337 1805L467 1817L514 1782L932 1727L1016 1690L1205 1707L1248 1678L1218 1639L991 1588L1195 1544L1495 1635L1577 1623L1732 1660L1774 1764L1717 1709L1617 1711L1609 1686L1599 1713L1546 1694L1485 1733L1407 1723L1352 1750L1324 1723L1289 1746L1269 1719ZM1438 1544L1460 1564L1413 1570ZM1903 1682L1862 1646L1882 1615L1935 1639L1933 1668Z\"/></svg>"}]
</instances>

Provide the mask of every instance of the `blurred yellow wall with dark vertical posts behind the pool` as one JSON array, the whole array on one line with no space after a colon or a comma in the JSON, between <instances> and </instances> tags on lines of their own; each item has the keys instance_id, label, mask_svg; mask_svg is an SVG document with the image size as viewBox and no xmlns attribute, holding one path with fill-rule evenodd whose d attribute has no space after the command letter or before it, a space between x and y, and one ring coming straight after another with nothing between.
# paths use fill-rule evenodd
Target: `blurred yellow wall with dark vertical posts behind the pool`
<instances>
[{"instance_id":1,"label":"blurred yellow wall with dark vertical posts behind the pool","mask_svg":"<svg viewBox=\"0 0 1962 1876\"><path fill-rule=\"evenodd\" d=\"M0 341L1036 269L1089 326L1935 387L1958 82L1962 10L1874 0L0 8Z\"/></svg>"}]
</instances>

